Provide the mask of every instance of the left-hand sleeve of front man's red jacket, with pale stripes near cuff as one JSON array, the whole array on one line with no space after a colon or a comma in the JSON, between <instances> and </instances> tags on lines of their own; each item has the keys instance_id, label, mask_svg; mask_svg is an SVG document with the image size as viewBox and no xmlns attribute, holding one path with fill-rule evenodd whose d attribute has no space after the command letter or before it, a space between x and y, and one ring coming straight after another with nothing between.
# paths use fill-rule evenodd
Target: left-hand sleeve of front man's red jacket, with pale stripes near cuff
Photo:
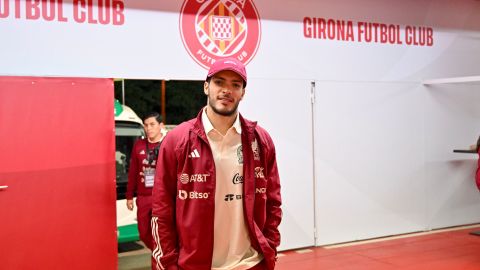
<instances>
[{"instance_id":1,"label":"left-hand sleeve of front man's red jacket, with pale stripes near cuff","mask_svg":"<svg viewBox=\"0 0 480 270\"><path fill-rule=\"evenodd\" d=\"M175 226L177 158L169 134L163 140L157 160L152 191L153 269L177 269L178 240Z\"/></svg>"}]
</instances>

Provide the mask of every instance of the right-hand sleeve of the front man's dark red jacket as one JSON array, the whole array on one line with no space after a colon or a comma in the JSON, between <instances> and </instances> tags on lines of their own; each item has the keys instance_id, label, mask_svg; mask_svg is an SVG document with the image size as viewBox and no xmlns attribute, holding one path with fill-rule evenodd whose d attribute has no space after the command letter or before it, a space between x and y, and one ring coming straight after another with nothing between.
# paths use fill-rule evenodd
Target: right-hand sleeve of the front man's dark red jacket
<instances>
[{"instance_id":1,"label":"right-hand sleeve of the front man's dark red jacket","mask_svg":"<svg viewBox=\"0 0 480 270\"><path fill-rule=\"evenodd\" d=\"M266 221L263 229L263 234L270 246L277 250L280 245L280 232L278 226L282 220L282 198L280 195L280 177L278 175L277 159L275 153L275 146L272 139L267 135L267 149L266 153L266 169L268 177L267 186L267 202L266 202Z\"/></svg>"}]
</instances>

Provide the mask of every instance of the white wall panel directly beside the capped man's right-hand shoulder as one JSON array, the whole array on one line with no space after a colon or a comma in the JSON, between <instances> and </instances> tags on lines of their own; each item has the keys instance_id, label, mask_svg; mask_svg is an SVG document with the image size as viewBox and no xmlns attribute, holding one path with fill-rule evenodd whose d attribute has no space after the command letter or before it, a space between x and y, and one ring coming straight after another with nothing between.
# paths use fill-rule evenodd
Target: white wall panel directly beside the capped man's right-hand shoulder
<instances>
[{"instance_id":1,"label":"white wall panel directly beside the capped man's right-hand shoulder","mask_svg":"<svg viewBox=\"0 0 480 270\"><path fill-rule=\"evenodd\" d=\"M310 82L250 79L240 111L275 142L283 198L280 250L313 246Z\"/></svg>"}]
</instances>

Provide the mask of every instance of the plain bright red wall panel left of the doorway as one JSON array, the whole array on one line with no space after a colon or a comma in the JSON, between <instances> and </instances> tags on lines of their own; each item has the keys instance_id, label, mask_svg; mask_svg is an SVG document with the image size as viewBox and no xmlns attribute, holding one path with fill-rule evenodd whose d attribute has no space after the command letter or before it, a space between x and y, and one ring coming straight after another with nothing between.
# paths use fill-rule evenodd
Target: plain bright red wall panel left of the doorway
<instances>
[{"instance_id":1,"label":"plain bright red wall panel left of the doorway","mask_svg":"<svg viewBox=\"0 0 480 270\"><path fill-rule=\"evenodd\" d=\"M110 79L0 77L0 268L115 269Z\"/></svg>"}]
</instances>

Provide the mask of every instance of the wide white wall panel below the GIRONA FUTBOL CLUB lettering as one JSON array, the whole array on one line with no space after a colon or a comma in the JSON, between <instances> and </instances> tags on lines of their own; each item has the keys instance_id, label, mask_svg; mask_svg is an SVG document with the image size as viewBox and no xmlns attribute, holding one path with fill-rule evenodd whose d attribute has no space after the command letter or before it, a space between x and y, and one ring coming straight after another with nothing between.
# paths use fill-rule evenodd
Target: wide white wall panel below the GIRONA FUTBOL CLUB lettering
<instances>
[{"instance_id":1,"label":"wide white wall panel below the GIRONA FUTBOL CLUB lettering","mask_svg":"<svg viewBox=\"0 0 480 270\"><path fill-rule=\"evenodd\" d=\"M424 229L418 83L316 82L317 244Z\"/></svg>"}]
</instances>

